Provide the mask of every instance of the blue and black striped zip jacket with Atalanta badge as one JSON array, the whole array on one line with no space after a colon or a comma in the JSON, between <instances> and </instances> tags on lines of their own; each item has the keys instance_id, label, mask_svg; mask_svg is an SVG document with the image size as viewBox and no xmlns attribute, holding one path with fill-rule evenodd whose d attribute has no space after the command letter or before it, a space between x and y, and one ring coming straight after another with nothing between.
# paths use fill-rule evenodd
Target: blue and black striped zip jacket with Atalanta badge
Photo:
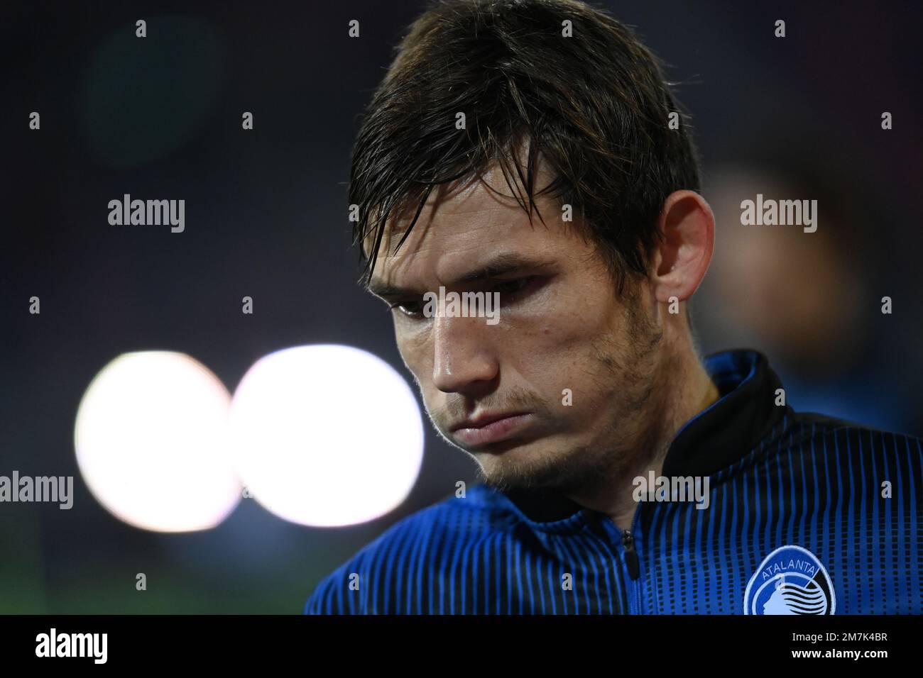
<instances>
[{"instance_id":1,"label":"blue and black striped zip jacket with Atalanta badge","mask_svg":"<svg viewBox=\"0 0 923 678\"><path fill-rule=\"evenodd\" d=\"M776 405L758 351L705 359L721 397L629 530L563 495L484 485L405 517L325 577L308 614L923 613L919 439Z\"/></svg>"}]
</instances>

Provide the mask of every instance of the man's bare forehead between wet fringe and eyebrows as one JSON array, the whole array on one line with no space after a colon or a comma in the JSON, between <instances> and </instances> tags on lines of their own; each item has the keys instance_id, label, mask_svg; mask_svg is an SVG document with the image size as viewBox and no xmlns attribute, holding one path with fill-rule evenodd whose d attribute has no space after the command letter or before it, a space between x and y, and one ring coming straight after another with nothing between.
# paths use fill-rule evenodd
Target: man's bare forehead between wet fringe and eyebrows
<instances>
[{"instance_id":1,"label":"man's bare forehead between wet fringe and eyebrows","mask_svg":"<svg viewBox=\"0 0 923 678\"><path fill-rule=\"evenodd\" d=\"M544 168L539 168L533 194L551 178ZM426 287L434 277L451 280L500 253L554 256L555 250L561 249L556 244L567 237L561 209L557 201L545 195L534 196L534 202L542 219L533 211L530 222L498 167L483 178L454 188L439 186L427 198L413 230L396 254L394 246L401 241L413 213L389 221L372 280Z\"/></svg>"}]
</instances>

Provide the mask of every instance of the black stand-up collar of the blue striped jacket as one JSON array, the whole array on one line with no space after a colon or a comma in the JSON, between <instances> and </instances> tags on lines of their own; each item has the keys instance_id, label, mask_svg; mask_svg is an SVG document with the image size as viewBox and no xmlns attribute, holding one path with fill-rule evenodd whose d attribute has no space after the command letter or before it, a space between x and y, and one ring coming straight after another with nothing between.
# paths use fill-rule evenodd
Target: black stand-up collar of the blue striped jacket
<instances>
[{"instance_id":1,"label":"black stand-up collar of the blue striped jacket","mask_svg":"<svg viewBox=\"0 0 923 678\"><path fill-rule=\"evenodd\" d=\"M680 427L666 453L665 476L713 475L746 456L790 411L775 405L782 382L760 351L721 351L703 363L719 398ZM555 490L501 494L533 529L568 531L587 518L587 509Z\"/></svg>"}]
</instances>

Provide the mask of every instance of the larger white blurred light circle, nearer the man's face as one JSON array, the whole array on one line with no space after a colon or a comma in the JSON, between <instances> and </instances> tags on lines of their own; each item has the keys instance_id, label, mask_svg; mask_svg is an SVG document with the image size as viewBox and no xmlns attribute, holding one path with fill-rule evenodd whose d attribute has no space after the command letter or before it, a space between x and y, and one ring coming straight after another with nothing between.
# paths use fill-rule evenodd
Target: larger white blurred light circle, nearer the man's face
<instances>
[{"instance_id":1,"label":"larger white blurred light circle, nearer the man's face","mask_svg":"<svg viewBox=\"0 0 923 678\"><path fill-rule=\"evenodd\" d=\"M349 346L261 358L234 392L230 437L248 494L302 525L366 522L399 506L423 461L423 422L407 382Z\"/></svg>"}]
</instances>

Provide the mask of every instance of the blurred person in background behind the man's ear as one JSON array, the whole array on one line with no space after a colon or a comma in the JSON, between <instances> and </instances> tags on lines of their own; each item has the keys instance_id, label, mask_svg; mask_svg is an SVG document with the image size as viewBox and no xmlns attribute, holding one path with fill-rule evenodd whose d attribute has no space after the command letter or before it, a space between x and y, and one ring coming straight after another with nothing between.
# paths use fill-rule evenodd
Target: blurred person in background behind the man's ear
<instances>
[{"instance_id":1,"label":"blurred person in background behind the man's ear","mask_svg":"<svg viewBox=\"0 0 923 678\"><path fill-rule=\"evenodd\" d=\"M797 410L913 430L917 398L895 369L899 344L881 314L881 298L896 289L884 276L888 212L874 185L859 180L857 161L822 142L821 130L777 134L789 139L783 148L741 140L736 148L746 160L707 176L716 256L693 303L701 344L760 346ZM817 230L742 224L741 203L758 194L816 199Z\"/></svg>"}]
</instances>

